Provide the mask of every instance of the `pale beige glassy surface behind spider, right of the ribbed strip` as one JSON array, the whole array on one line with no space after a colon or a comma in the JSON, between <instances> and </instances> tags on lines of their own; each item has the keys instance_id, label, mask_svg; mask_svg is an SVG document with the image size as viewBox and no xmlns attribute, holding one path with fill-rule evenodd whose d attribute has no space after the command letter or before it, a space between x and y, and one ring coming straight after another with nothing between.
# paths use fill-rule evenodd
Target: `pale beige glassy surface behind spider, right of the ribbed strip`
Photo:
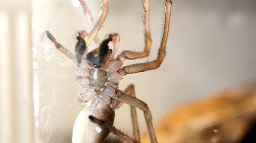
<instances>
[{"instance_id":1,"label":"pale beige glassy surface behind spider, right of the ribbed strip","mask_svg":"<svg viewBox=\"0 0 256 143\"><path fill-rule=\"evenodd\" d=\"M101 1L88 1L96 22ZM151 1L152 50L150 56L124 65L152 61L157 56L163 27L164 1ZM145 101L159 123L169 109L236 85L255 81L256 23L254 1L175 1L172 10L166 58L160 68L127 75L120 83L124 90L135 84L136 95ZM218 7L213 7L217 5ZM121 52L140 51L144 46L143 9L140 1L110 1L109 14L99 38L119 33ZM253 24L254 23L254 24ZM75 64L58 51L46 37L50 31L57 41L74 53L76 35L90 30L76 1L33 1L33 70L37 140L71 142L78 112ZM95 48L92 43L90 49ZM204 96L206 95L206 96ZM38 103L38 104L36 104ZM132 134L130 107L116 110L114 125ZM140 129L146 125L138 111Z\"/></svg>"}]
</instances>

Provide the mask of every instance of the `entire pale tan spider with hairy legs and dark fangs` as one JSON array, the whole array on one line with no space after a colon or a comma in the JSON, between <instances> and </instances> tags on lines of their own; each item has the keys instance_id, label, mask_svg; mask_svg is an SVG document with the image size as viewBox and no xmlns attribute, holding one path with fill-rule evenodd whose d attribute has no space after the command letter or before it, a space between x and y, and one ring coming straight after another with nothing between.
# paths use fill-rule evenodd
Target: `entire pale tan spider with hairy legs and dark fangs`
<instances>
[{"instance_id":1,"label":"entire pale tan spider with hairy legs and dark fangs","mask_svg":"<svg viewBox=\"0 0 256 143\"><path fill-rule=\"evenodd\" d=\"M140 142L135 109L135 107L138 107L144 112L151 142L156 143L152 115L147 104L135 97L134 84L130 84L124 91L118 89L118 84L123 76L127 74L153 70L161 65L165 57L172 1L165 1L164 30L157 59L127 66L122 66L125 60L144 58L150 52L152 40L148 13L149 0L142 1L145 27L144 50L141 52L123 50L118 55L120 37L116 33L110 34L97 48L88 51L88 47L93 40L95 43L99 43L97 33L108 13L108 0L102 0L102 12L95 24L86 3L82 0L79 0L79 2L92 28L89 33L86 31L78 32L75 55L59 44L49 31L46 31L47 37L54 43L55 47L74 60L77 65L76 81L80 87L85 89L78 95L78 103L83 106L83 109L75 121L72 142L103 142L110 132L122 137L126 142ZM113 49L109 48L108 44L110 42L113 42ZM134 138L129 137L113 126L115 109L118 109L122 103L131 105Z\"/></svg>"}]
</instances>

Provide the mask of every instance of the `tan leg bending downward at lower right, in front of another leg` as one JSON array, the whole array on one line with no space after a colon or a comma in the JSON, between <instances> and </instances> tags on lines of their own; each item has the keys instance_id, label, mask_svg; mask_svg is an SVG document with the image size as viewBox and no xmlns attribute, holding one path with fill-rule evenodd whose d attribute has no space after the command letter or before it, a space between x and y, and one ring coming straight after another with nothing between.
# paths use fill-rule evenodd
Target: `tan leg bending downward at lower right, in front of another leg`
<instances>
[{"instance_id":1,"label":"tan leg bending downward at lower right, in front of another leg","mask_svg":"<svg viewBox=\"0 0 256 143\"><path fill-rule=\"evenodd\" d=\"M157 143L157 138L156 138L156 134L155 134L153 123L152 123L152 115L147 104L136 97L123 93L120 90L117 91L115 98L117 100L120 100L124 103L138 107L141 110L143 110L147 129L148 129L148 132L150 133L151 143Z\"/></svg>"}]
</instances>

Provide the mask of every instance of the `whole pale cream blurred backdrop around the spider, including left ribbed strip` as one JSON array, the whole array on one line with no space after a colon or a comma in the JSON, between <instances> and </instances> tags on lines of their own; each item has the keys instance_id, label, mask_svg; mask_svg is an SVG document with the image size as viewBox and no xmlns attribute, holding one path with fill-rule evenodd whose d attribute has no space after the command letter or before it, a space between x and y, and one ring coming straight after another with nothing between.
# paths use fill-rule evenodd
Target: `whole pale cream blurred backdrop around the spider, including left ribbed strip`
<instances>
[{"instance_id":1,"label":"whole pale cream blurred backdrop around the spider, including left ribbed strip","mask_svg":"<svg viewBox=\"0 0 256 143\"><path fill-rule=\"evenodd\" d=\"M101 1L87 4L96 22ZM180 104L255 82L255 12L254 0L173 1L162 65L125 76L120 89L134 83L137 97L148 104L157 124ZM120 51L142 50L143 15L141 1L111 0L99 38L115 32L121 37ZM1 0L0 19L0 142L71 142L73 123L81 110L76 98L83 89L75 82L74 63L55 49L45 30L73 52L77 31L90 30L82 8L75 0ZM164 1L150 1L150 56L125 61L125 65L156 58L163 20ZM145 130L143 113L138 115L140 129ZM131 121L130 107L123 105L116 110L114 125L131 134L127 121Z\"/></svg>"}]
</instances>

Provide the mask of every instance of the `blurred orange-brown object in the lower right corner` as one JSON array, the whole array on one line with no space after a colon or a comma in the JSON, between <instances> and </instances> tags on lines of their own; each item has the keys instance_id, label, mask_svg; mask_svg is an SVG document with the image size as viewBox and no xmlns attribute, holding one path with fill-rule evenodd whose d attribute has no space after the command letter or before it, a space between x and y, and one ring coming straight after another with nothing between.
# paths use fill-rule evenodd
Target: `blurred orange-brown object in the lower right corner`
<instances>
[{"instance_id":1,"label":"blurred orange-brown object in the lower right corner","mask_svg":"<svg viewBox=\"0 0 256 143\"><path fill-rule=\"evenodd\" d=\"M256 84L178 107L155 126L158 142L248 142L246 135L255 132L255 104ZM147 133L141 142L150 142Z\"/></svg>"}]
</instances>

